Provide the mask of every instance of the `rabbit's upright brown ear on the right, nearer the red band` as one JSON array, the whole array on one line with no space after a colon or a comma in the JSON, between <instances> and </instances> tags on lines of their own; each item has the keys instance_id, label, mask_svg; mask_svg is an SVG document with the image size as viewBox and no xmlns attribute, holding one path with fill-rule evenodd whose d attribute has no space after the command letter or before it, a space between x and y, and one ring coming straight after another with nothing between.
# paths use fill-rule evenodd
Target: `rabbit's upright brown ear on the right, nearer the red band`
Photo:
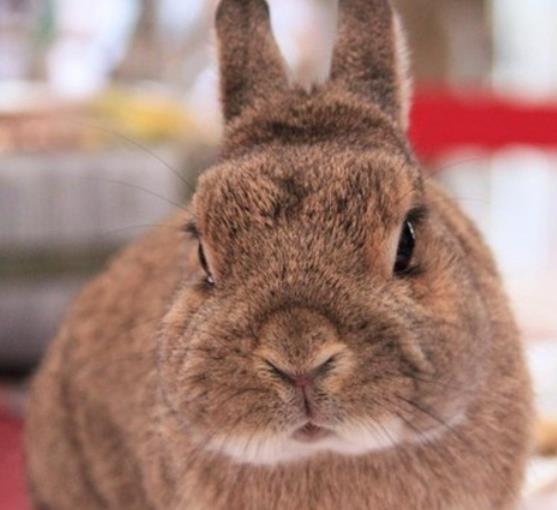
<instances>
[{"instance_id":1,"label":"rabbit's upright brown ear on the right, nearer the red band","mask_svg":"<svg viewBox=\"0 0 557 510\"><path fill-rule=\"evenodd\" d=\"M331 80L365 95L402 127L409 102L408 59L389 0L339 0Z\"/></svg>"}]
</instances>

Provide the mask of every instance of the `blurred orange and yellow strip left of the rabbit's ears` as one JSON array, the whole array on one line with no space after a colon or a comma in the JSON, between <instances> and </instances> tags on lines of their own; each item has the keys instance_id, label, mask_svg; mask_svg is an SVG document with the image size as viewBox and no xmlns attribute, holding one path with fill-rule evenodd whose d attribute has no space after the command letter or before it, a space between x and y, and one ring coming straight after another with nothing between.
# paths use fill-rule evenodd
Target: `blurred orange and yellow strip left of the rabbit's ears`
<instances>
[{"instance_id":1,"label":"blurred orange and yellow strip left of the rabbit's ears","mask_svg":"<svg viewBox=\"0 0 557 510\"><path fill-rule=\"evenodd\" d=\"M163 92L111 89L74 103L43 88L29 85L26 94L0 104L0 153L95 151L118 138L149 145L205 136L184 105ZM6 87L0 90L7 95Z\"/></svg>"}]
</instances>

